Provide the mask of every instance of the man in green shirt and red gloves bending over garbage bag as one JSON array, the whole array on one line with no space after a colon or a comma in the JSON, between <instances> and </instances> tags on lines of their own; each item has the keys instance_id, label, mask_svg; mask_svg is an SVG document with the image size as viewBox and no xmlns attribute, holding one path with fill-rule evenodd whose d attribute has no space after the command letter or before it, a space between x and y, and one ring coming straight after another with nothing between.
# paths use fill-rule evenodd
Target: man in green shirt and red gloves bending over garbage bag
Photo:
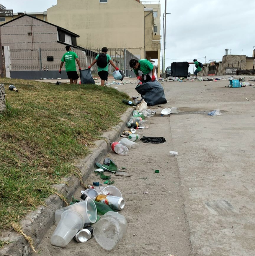
<instances>
[{"instance_id":1,"label":"man in green shirt and red gloves bending over garbage bag","mask_svg":"<svg viewBox=\"0 0 255 256\"><path fill-rule=\"evenodd\" d=\"M148 59L130 59L129 66L133 68L137 79L142 83L158 80L155 67ZM139 70L143 73L141 76L138 73Z\"/></svg>"}]
</instances>

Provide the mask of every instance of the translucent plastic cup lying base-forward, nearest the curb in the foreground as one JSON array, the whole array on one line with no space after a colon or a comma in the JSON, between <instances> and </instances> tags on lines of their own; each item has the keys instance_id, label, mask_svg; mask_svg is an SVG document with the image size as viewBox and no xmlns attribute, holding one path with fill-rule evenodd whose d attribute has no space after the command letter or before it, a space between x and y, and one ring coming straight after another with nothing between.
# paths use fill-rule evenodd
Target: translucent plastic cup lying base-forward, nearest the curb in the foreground
<instances>
[{"instance_id":1,"label":"translucent plastic cup lying base-forward, nearest the curb in the foreground","mask_svg":"<svg viewBox=\"0 0 255 256\"><path fill-rule=\"evenodd\" d=\"M83 226L84 220L79 212L66 210L61 215L61 220L50 238L50 243L58 247L66 247Z\"/></svg>"}]
</instances>

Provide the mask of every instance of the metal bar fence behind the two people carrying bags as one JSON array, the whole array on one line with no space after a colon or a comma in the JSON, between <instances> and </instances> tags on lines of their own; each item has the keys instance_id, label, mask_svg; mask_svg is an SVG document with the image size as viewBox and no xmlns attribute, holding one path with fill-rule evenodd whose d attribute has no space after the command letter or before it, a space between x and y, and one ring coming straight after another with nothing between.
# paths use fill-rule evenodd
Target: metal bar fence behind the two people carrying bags
<instances>
[{"instance_id":1,"label":"metal bar fence behind the two people carrying bags","mask_svg":"<svg viewBox=\"0 0 255 256\"><path fill-rule=\"evenodd\" d=\"M91 62L95 59L97 54L101 53L99 48L84 49L79 47L72 47L73 51L78 55L81 68L86 69ZM61 49L10 49L10 61L12 71L52 71L59 70L61 58L66 51ZM114 64L123 70L125 75L130 70L129 60L134 58L131 52L122 48L111 48L107 52ZM63 66L65 67L65 65ZM76 68L78 71L78 65L76 63ZM109 73L112 73L114 68L109 65ZM91 73L97 73L97 65L91 67Z\"/></svg>"}]
</instances>

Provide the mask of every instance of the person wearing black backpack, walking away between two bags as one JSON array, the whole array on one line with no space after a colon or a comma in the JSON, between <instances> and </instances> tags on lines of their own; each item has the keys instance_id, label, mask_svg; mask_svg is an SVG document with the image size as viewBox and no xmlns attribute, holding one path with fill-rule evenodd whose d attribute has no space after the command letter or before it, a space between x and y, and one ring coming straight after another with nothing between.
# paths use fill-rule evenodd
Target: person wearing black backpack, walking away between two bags
<instances>
[{"instance_id":1,"label":"person wearing black backpack, walking away between two bags","mask_svg":"<svg viewBox=\"0 0 255 256\"><path fill-rule=\"evenodd\" d=\"M112 59L110 55L107 54L107 51L108 51L107 47L103 47L102 53L97 54L96 58L88 67L90 69L95 63L97 63L97 73L101 79L101 86L104 86L104 81L108 80L108 75L109 75L108 63L110 63L115 68L115 70L119 70L119 68L117 68L112 62Z\"/></svg>"}]
</instances>

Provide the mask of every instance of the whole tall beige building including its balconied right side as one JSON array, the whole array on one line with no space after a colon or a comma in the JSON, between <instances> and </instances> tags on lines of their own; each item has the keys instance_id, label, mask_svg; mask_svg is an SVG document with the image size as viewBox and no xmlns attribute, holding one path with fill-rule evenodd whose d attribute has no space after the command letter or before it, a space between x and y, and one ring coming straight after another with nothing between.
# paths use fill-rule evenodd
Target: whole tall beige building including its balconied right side
<instances>
[{"instance_id":1,"label":"whole tall beige building including its balconied right side","mask_svg":"<svg viewBox=\"0 0 255 256\"><path fill-rule=\"evenodd\" d=\"M70 1L62 0L47 9L47 18L80 35L77 45L81 47L125 48L138 59L159 60L159 3L150 1L145 6L139 0L76 0L70 7Z\"/></svg>"}]
</instances>

